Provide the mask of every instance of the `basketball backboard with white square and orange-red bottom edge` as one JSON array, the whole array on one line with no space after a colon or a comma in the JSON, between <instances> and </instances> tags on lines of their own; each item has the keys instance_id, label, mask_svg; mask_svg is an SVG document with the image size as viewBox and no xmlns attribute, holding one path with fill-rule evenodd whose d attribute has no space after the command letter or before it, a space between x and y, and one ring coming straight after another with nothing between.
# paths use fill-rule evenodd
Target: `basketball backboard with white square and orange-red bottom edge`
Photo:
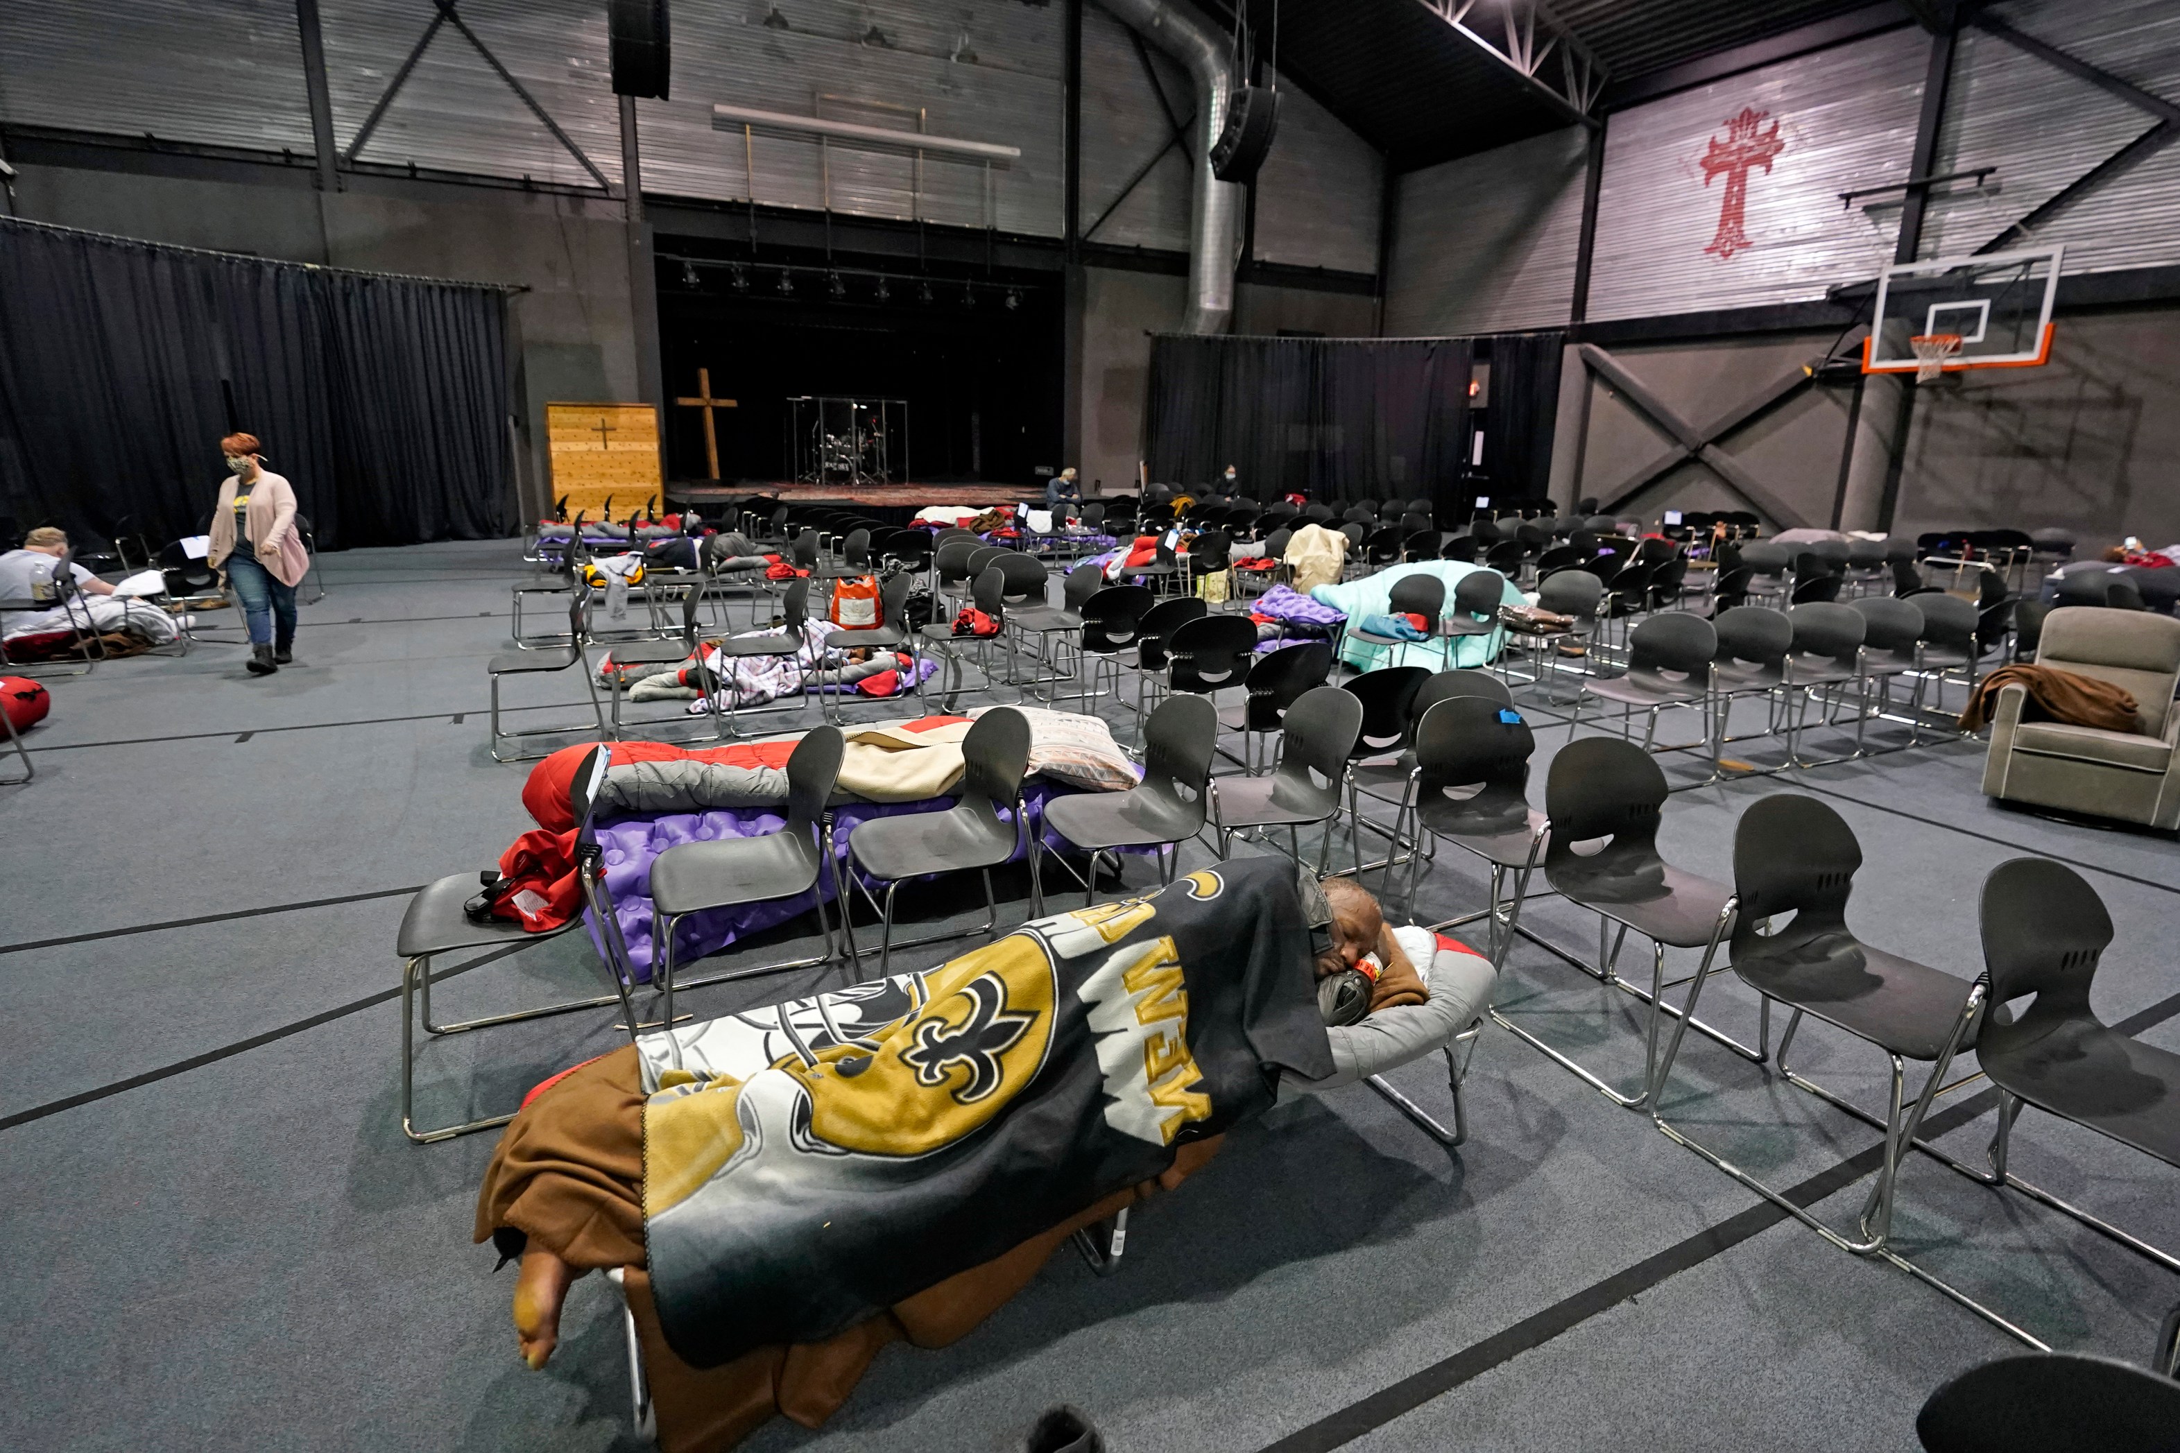
<instances>
[{"instance_id":1,"label":"basketball backboard with white square and orange-red bottom edge","mask_svg":"<svg viewBox=\"0 0 2180 1453\"><path fill-rule=\"evenodd\" d=\"M1877 277L1877 316L1862 344L1862 373L1925 368L1914 340L1934 335L1960 340L1942 362L1945 373L2047 362L2062 255L2064 248L2051 246L1886 268Z\"/></svg>"}]
</instances>

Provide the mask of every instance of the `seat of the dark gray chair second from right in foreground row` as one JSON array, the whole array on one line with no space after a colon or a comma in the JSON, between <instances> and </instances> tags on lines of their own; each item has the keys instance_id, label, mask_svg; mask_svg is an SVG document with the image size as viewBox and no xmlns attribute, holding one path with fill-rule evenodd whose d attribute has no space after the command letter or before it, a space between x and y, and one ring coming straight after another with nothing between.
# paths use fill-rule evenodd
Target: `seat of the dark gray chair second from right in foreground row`
<instances>
[{"instance_id":1,"label":"seat of the dark gray chair second from right in foreground row","mask_svg":"<svg viewBox=\"0 0 2180 1453\"><path fill-rule=\"evenodd\" d=\"M1938 1059L1969 998L1964 978L1840 930L1803 937L1788 928L1766 952L1737 954L1733 972L1757 993L1905 1059Z\"/></svg>"}]
</instances>

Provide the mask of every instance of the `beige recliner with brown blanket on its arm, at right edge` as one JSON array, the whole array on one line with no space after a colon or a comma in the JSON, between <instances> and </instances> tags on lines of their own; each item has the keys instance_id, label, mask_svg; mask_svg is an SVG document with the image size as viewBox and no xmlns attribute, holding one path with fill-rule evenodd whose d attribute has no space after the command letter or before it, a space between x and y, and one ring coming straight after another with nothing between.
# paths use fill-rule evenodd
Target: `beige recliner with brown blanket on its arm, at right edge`
<instances>
[{"instance_id":1,"label":"beige recliner with brown blanket on its arm, at right edge","mask_svg":"<svg viewBox=\"0 0 2180 1453\"><path fill-rule=\"evenodd\" d=\"M2021 721L2027 688L2006 686L1990 719L1984 795L2180 828L2180 621L2064 606L2045 616L2036 664L2123 686L2141 710L2143 734Z\"/></svg>"}]
</instances>

